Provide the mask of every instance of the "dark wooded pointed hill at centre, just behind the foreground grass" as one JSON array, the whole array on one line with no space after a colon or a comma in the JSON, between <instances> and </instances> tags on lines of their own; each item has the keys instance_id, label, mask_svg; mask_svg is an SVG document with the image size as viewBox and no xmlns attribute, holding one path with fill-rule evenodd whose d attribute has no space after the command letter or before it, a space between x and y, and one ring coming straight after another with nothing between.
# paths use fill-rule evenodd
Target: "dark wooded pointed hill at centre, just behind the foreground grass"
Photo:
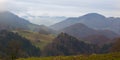
<instances>
[{"instance_id":1,"label":"dark wooded pointed hill at centre, just behind the foreground grass","mask_svg":"<svg viewBox=\"0 0 120 60\"><path fill-rule=\"evenodd\" d=\"M94 52L94 48L94 46L84 43L75 37L61 33L53 40L52 43L48 44L45 47L43 55L58 56L90 54Z\"/></svg>"}]
</instances>

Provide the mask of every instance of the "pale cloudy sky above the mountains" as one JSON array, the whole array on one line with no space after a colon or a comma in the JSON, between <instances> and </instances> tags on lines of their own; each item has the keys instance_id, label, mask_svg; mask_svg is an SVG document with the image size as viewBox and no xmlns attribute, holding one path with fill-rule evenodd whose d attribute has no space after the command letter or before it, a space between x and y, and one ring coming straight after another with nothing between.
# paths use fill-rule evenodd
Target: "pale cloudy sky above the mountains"
<instances>
[{"instance_id":1,"label":"pale cloudy sky above the mountains","mask_svg":"<svg viewBox=\"0 0 120 60\"><path fill-rule=\"evenodd\" d=\"M0 9L3 5L19 16L74 17L100 13L120 17L120 0L0 0Z\"/></svg>"}]
</instances>

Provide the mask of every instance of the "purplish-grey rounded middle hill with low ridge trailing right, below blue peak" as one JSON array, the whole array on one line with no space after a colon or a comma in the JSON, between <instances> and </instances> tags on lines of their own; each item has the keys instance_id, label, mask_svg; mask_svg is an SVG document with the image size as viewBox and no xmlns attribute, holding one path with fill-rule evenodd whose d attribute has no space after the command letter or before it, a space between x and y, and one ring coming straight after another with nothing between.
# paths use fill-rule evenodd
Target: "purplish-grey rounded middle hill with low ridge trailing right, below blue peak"
<instances>
[{"instance_id":1,"label":"purplish-grey rounded middle hill with low ridge trailing right, below blue peak","mask_svg":"<svg viewBox=\"0 0 120 60\"><path fill-rule=\"evenodd\" d=\"M74 25L66 27L66 28L60 30L60 32L65 32L65 33L72 35L74 37L77 37L77 38L83 38L83 37L87 37L90 35L104 35L107 38L113 39L113 38L116 38L119 36L118 34L114 33L113 31L95 30L95 29L89 28L88 26L86 26L82 23L76 23Z\"/></svg>"}]
</instances>

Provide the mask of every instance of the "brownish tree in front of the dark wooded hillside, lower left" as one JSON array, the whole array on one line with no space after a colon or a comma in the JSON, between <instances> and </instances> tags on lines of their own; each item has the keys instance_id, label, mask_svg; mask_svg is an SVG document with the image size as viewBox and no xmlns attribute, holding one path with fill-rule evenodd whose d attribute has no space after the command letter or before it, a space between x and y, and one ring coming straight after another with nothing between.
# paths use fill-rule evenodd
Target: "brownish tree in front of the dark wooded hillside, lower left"
<instances>
[{"instance_id":1,"label":"brownish tree in front of the dark wooded hillside, lower left","mask_svg":"<svg viewBox=\"0 0 120 60\"><path fill-rule=\"evenodd\" d=\"M8 51L9 59L14 60L18 58L20 55L23 55L21 52L22 43L17 40L12 40L8 42Z\"/></svg>"}]
</instances>

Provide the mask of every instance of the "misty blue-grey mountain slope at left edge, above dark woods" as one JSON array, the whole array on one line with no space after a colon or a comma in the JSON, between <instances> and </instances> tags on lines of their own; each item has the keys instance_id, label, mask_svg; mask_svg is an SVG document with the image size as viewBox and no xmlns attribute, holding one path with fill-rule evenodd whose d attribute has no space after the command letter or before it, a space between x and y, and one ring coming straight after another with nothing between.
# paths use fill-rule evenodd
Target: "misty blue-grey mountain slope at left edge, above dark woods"
<instances>
[{"instance_id":1,"label":"misty blue-grey mountain slope at left edge, above dark woods","mask_svg":"<svg viewBox=\"0 0 120 60\"><path fill-rule=\"evenodd\" d=\"M0 29L30 29L33 25L29 21L12 14L11 12L0 13Z\"/></svg>"}]
</instances>

